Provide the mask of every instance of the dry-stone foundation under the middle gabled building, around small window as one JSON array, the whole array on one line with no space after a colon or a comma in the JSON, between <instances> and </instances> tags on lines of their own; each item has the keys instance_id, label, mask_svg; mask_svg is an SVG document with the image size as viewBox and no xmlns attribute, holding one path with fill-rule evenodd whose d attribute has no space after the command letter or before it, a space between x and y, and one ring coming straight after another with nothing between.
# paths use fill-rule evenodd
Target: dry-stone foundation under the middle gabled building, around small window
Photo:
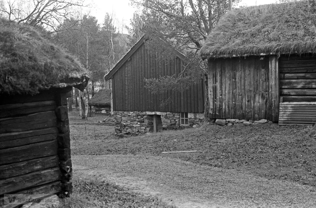
<instances>
[{"instance_id":1,"label":"dry-stone foundation under the middle gabled building, around small window","mask_svg":"<svg viewBox=\"0 0 316 208\"><path fill-rule=\"evenodd\" d=\"M139 135L154 130L153 115L161 115L162 129L178 129L180 113L159 111L114 111L115 135ZM184 127L197 127L204 122L203 113L188 113L188 123ZM181 126L182 127L182 126Z\"/></svg>"}]
</instances>

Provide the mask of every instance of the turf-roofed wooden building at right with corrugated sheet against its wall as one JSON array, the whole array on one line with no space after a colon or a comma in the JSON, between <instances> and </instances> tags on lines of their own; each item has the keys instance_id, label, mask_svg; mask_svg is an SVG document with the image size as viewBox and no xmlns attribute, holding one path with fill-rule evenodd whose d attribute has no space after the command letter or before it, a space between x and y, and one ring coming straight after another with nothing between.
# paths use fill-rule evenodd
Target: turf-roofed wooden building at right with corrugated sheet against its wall
<instances>
[{"instance_id":1,"label":"turf-roofed wooden building at right with corrugated sheet against its wall","mask_svg":"<svg viewBox=\"0 0 316 208\"><path fill-rule=\"evenodd\" d=\"M200 50L208 59L209 117L223 125L315 124L315 23L307 1L223 16Z\"/></svg>"}]
</instances>

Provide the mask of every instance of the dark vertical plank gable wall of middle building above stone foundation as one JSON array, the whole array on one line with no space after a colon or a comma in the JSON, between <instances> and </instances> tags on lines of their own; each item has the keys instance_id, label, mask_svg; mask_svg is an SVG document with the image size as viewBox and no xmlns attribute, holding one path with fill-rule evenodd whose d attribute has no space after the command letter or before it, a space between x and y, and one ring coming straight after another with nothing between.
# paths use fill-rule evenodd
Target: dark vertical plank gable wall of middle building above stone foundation
<instances>
[{"instance_id":1,"label":"dark vertical plank gable wall of middle building above stone foundation","mask_svg":"<svg viewBox=\"0 0 316 208\"><path fill-rule=\"evenodd\" d=\"M183 61L167 59L143 44L113 75L113 110L204 112L204 83L191 85L183 92L163 91L151 94L144 78L171 76L183 70Z\"/></svg>"}]
</instances>

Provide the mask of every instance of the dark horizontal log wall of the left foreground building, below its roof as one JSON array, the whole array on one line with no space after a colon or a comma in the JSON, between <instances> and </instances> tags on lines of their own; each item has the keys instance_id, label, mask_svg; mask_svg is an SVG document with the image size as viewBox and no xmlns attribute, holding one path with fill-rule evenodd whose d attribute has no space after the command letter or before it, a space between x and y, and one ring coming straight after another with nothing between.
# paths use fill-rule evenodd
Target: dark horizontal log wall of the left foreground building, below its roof
<instances>
[{"instance_id":1,"label":"dark horizontal log wall of the left foreground building, below its roof","mask_svg":"<svg viewBox=\"0 0 316 208\"><path fill-rule=\"evenodd\" d=\"M49 93L1 101L1 195L61 191L57 106L55 95Z\"/></svg>"}]
</instances>

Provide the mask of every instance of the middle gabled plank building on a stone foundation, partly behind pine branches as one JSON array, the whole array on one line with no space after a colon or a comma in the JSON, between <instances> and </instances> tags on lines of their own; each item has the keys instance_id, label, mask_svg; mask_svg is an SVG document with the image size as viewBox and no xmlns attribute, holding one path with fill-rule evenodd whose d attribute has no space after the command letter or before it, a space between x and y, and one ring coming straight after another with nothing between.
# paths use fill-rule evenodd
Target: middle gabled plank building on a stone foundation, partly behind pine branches
<instances>
[{"instance_id":1,"label":"middle gabled plank building on a stone foundation, partly behind pine branches","mask_svg":"<svg viewBox=\"0 0 316 208\"><path fill-rule=\"evenodd\" d=\"M105 76L112 79L116 134L199 125L204 119L203 80L182 92L151 94L144 78L177 77L183 71L185 55L176 51L174 57L163 57L145 41L143 36Z\"/></svg>"}]
</instances>

